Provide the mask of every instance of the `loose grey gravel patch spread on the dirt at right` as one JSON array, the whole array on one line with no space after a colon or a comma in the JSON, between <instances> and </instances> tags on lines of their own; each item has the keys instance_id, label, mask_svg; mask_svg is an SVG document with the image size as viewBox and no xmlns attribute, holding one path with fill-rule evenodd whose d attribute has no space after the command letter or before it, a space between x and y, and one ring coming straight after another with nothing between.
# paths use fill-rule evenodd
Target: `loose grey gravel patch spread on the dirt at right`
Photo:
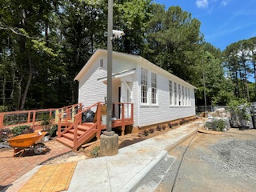
<instances>
[{"instance_id":1,"label":"loose grey gravel patch spread on the dirt at right","mask_svg":"<svg viewBox=\"0 0 256 192\"><path fill-rule=\"evenodd\" d=\"M201 158L209 162L214 170L256 181L256 140L228 139L210 145L210 149L218 158L206 154Z\"/></svg>"}]
</instances>

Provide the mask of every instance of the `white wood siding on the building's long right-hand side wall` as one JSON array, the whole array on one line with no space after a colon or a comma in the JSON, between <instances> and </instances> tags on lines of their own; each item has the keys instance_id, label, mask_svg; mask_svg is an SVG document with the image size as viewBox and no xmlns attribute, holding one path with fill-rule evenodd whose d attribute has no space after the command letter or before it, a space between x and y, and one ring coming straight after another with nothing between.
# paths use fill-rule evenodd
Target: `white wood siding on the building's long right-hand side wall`
<instances>
[{"instance_id":1,"label":"white wood siding on the building's long right-hand side wall","mask_svg":"<svg viewBox=\"0 0 256 192\"><path fill-rule=\"evenodd\" d=\"M166 77L165 74L156 71L154 68L146 67L146 63L141 62L141 67L149 70L149 74L154 72L157 74L157 89L158 89L158 98L157 103L155 104L141 104L140 102L140 74L138 74L138 113L139 119L137 124L134 126L148 126L151 124L157 124L160 122L168 122L178 118L186 118L195 115L195 106L194 106L194 87L189 86L189 84L184 83L182 79L179 78L170 78ZM140 70L139 70L140 73ZM148 81L150 85L151 77L149 75ZM184 87L189 88L190 90L190 106L170 106L169 105L169 80L172 82L177 82L178 84ZM150 91L149 87L149 91ZM149 93L148 95L151 96ZM151 98L148 98L151 101Z\"/></svg>"}]
</instances>

